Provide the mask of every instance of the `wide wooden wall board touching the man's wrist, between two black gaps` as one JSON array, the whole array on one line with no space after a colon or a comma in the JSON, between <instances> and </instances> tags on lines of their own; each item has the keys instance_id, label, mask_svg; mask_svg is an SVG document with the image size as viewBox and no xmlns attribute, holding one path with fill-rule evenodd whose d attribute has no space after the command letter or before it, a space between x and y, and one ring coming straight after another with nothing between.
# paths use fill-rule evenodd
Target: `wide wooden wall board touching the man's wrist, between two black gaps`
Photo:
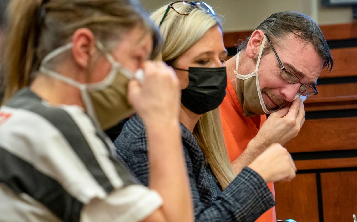
<instances>
[{"instance_id":1,"label":"wide wooden wall board touching the man's wrist, between two black gaps","mask_svg":"<svg viewBox=\"0 0 357 222\"><path fill-rule=\"evenodd\" d=\"M285 147L292 153L357 149L356 126L357 117L306 120Z\"/></svg>"}]
</instances>

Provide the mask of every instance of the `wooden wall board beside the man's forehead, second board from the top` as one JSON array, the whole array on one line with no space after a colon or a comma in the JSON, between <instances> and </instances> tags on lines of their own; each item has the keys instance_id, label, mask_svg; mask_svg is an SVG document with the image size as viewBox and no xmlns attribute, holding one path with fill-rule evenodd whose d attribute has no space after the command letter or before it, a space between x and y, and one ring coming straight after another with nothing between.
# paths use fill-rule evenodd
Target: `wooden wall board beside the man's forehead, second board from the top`
<instances>
[{"instance_id":1,"label":"wooden wall board beside the man's forehead, second board from the top","mask_svg":"<svg viewBox=\"0 0 357 222\"><path fill-rule=\"evenodd\" d=\"M323 69L320 78L357 76L357 47L331 49L334 68L331 72Z\"/></svg>"}]
</instances>

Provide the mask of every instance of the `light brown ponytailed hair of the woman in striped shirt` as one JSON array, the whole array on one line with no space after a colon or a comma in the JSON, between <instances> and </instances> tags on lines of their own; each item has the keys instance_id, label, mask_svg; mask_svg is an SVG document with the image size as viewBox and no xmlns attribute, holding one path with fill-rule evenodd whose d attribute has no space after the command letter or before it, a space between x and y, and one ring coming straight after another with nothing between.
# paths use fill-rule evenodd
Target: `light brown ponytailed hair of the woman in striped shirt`
<instances>
[{"instance_id":1,"label":"light brown ponytailed hair of the woman in striped shirt","mask_svg":"<svg viewBox=\"0 0 357 222\"><path fill-rule=\"evenodd\" d=\"M118 42L120 34L136 26L151 33L154 53L159 32L135 0L14 0L7 16L4 54L4 101L31 83L31 73L52 50L70 41L85 27L104 44Z\"/></svg>"}]
</instances>

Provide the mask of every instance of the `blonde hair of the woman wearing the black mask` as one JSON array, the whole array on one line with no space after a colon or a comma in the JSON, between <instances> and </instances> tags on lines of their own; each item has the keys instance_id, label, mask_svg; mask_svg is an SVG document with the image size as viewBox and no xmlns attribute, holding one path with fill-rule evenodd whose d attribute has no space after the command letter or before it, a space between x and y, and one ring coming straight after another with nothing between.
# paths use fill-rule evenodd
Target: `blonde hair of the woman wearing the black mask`
<instances>
[{"instance_id":1,"label":"blonde hair of the woman wearing the black mask","mask_svg":"<svg viewBox=\"0 0 357 222\"><path fill-rule=\"evenodd\" d=\"M222 29L221 20L217 16L212 16L198 8L190 11L188 5L182 4L181 7L181 12L190 12L190 14L180 15L170 9L160 27L164 46L158 59L169 61L169 65L173 65L177 57L200 40L208 29L214 26ZM157 25L160 24L166 9L167 5L164 5L151 14L151 19ZM218 108L201 116L193 130L193 135L221 187L226 188L235 178L235 173L227 155Z\"/></svg>"}]
</instances>

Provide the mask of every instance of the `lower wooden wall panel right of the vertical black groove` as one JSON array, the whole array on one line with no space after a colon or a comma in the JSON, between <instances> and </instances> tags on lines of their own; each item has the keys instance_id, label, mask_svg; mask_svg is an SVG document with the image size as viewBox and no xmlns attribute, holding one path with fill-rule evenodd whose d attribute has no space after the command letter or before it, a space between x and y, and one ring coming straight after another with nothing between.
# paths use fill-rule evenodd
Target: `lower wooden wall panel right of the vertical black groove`
<instances>
[{"instance_id":1,"label":"lower wooden wall panel right of the vertical black groove","mask_svg":"<svg viewBox=\"0 0 357 222\"><path fill-rule=\"evenodd\" d=\"M353 221L357 214L357 171L321 173L325 222Z\"/></svg>"}]
</instances>

